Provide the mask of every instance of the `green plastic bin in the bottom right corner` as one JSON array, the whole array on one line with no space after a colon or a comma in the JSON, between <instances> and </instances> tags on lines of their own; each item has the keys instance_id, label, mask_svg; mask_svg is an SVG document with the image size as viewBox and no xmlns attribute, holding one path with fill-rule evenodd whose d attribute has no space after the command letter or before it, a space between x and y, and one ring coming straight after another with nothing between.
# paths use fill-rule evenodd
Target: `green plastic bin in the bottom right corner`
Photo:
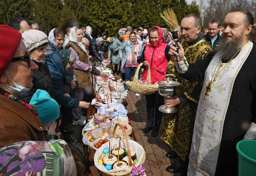
<instances>
[{"instance_id":1,"label":"green plastic bin in the bottom right corner","mask_svg":"<svg viewBox=\"0 0 256 176\"><path fill-rule=\"evenodd\" d=\"M256 175L256 140L241 140L236 144L238 176Z\"/></svg>"}]
</instances>

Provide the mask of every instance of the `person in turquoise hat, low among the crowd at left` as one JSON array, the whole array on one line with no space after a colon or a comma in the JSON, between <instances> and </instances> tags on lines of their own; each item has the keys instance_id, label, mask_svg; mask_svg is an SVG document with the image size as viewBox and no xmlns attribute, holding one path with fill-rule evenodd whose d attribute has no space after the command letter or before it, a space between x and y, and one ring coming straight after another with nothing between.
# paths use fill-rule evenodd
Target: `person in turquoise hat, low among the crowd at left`
<instances>
[{"instance_id":1,"label":"person in turquoise hat, low among the crowd at left","mask_svg":"<svg viewBox=\"0 0 256 176\"><path fill-rule=\"evenodd\" d=\"M38 117L47 129L48 139L59 139L61 133L55 133L56 119L60 117L59 104L45 90L41 89L36 90L29 104L36 107Z\"/></svg>"}]
</instances>

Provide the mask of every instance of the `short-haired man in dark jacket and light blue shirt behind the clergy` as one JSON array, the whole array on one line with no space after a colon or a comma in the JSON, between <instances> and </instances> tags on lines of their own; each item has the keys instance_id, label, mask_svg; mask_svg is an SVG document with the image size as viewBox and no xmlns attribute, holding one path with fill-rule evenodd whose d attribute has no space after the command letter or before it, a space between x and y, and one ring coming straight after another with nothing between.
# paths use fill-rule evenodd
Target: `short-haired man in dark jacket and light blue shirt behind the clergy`
<instances>
[{"instance_id":1,"label":"short-haired man in dark jacket and light blue shirt behind the clergy","mask_svg":"<svg viewBox=\"0 0 256 176\"><path fill-rule=\"evenodd\" d=\"M218 52L216 48L219 46L219 42L222 41L222 37L219 34L220 28L220 21L211 19L208 23L208 33L203 36L215 53Z\"/></svg>"}]
</instances>

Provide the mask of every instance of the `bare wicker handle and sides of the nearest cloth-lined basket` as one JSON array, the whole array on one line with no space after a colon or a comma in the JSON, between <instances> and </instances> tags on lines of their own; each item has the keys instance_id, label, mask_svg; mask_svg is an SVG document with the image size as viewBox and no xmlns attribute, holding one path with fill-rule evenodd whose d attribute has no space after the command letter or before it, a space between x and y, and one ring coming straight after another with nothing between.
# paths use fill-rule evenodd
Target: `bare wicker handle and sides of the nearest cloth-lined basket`
<instances>
[{"instance_id":1,"label":"bare wicker handle and sides of the nearest cloth-lined basket","mask_svg":"<svg viewBox=\"0 0 256 176\"><path fill-rule=\"evenodd\" d=\"M125 137L125 142L126 142L126 146L127 146L127 150L128 150L128 157L129 157L129 161L131 162L131 151L130 151L130 146L129 146L129 142L128 142L128 138L126 136L126 132L123 128L123 126L121 124L119 124L118 122L115 124L115 127L114 127L114 131L113 131L113 134L112 134L112 138L115 138L115 130L116 130L116 127L119 126L120 129L122 130L123 134L124 134L124 137ZM139 144L138 144L139 145ZM146 153L145 153L145 150L143 152L143 156L142 156L142 160L141 160L141 164L144 163L146 159ZM97 160L98 161L98 160ZM95 156L94 156L94 162L95 161ZM132 167L131 163L128 163L129 167ZM102 173L102 176L129 176L132 172L126 172L126 171L118 171L118 172L101 172Z\"/></svg>"}]
</instances>

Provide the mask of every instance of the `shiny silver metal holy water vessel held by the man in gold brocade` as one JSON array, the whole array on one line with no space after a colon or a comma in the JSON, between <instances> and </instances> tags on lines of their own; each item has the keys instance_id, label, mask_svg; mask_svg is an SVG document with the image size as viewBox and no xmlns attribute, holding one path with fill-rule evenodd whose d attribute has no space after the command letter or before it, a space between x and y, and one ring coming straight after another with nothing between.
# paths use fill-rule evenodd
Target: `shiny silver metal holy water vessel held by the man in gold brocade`
<instances>
[{"instance_id":1,"label":"shiny silver metal holy water vessel held by the man in gold brocade","mask_svg":"<svg viewBox=\"0 0 256 176\"><path fill-rule=\"evenodd\" d=\"M160 81L158 82L158 92L163 97L175 97L177 96L178 87L181 85L180 82L177 82L178 79L175 79L175 81ZM166 105L161 105L158 108L159 111L163 113L175 113L177 112L177 108L175 106L173 107L167 107Z\"/></svg>"}]
</instances>

